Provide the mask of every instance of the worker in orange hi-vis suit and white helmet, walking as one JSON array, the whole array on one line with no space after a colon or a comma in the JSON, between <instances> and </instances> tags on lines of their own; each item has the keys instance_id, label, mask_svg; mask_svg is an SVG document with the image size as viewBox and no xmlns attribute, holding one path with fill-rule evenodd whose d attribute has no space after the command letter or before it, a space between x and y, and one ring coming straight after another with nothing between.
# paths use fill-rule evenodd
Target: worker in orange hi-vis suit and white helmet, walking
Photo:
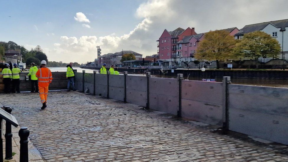
<instances>
[{"instance_id":1,"label":"worker in orange hi-vis suit and white helmet, walking","mask_svg":"<svg viewBox=\"0 0 288 162\"><path fill-rule=\"evenodd\" d=\"M41 109L45 109L47 107L47 95L48 95L48 86L52 82L52 73L50 69L46 68L46 61L41 61L42 68L39 68L36 77L38 78L38 88L39 88L39 96L41 99L41 103L43 106Z\"/></svg>"}]
</instances>

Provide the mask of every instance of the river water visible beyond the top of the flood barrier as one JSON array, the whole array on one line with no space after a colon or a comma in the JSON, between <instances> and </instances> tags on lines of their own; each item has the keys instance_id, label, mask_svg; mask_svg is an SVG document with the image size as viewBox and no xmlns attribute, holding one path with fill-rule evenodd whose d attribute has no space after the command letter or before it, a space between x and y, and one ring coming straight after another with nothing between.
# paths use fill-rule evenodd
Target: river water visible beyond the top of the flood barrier
<instances>
[{"instance_id":1,"label":"river water visible beyond the top of the flood barrier","mask_svg":"<svg viewBox=\"0 0 288 162\"><path fill-rule=\"evenodd\" d=\"M67 70L66 67L60 68L50 68L52 72L59 71L65 72ZM82 72L85 70L86 73L93 73L91 69L83 69L79 67L73 67L73 69L77 70L77 72ZM131 75L140 75L145 76L144 74L131 74ZM152 77L161 77L161 78L176 78L174 76L152 76ZM184 77L187 79L187 77ZM198 77L189 77L189 80L196 80L202 81L202 79L216 79L217 82L222 82L222 78L198 78ZM269 87L282 87L288 88L288 80L280 80L280 79L238 79L238 78L231 78L232 84L246 84L246 85L253 85L253 86L269 86Z\"/></svg>"}]
</instances>

